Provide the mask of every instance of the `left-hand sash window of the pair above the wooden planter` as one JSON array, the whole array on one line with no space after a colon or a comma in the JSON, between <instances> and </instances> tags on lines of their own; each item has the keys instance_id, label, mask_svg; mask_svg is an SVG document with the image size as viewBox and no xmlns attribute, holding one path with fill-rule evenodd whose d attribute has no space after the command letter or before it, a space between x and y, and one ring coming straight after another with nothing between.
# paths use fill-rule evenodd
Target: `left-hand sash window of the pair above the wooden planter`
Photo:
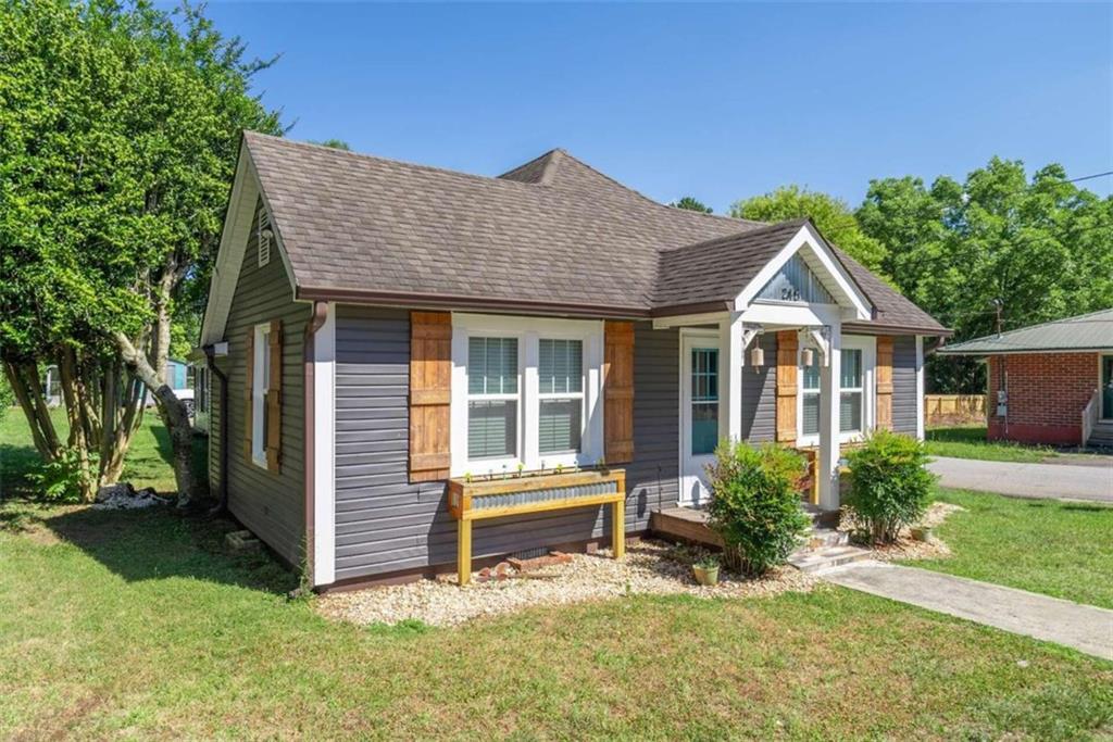
<instances>
[{"instance_id":1,"label":"left-hand sash window of the pair above the wooden planter","mask_svg":"<svg viewBox=\"0 0 1113 742\"><path fill-rule=\"evenodd\" d=\"M518 338L469 338L469 458L518 455Z\"/></svg>"}]
</instances>

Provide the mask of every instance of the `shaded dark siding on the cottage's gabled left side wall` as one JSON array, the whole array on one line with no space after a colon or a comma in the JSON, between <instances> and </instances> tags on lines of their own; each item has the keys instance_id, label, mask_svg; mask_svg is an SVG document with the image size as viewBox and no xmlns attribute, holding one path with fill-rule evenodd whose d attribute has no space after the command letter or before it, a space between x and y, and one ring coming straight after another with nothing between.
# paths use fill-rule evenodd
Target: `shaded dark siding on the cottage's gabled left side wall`
<instances>
[{"instance_id":1,"label":"shaded dark siding on the cottage's gabled left side wall","mask_svg":"<svg viewBox=\"0 0 1113 742\"><path fill-rule=\"evenodd\" d=\"M260 208L260 207L259 207ZM256 209L256 219L258 208ZM228 508L247 528L290 564L301 564L305 535L305 397L303 343L308 306L296 304L282 257L272 249L266 266L258 266L256 225L244 253L239 281L228 314L225 339L228 356ZM282 468L272 474L248 462L244 454L247 333L257 324L283 321ZM214 383L214 392L218 384ZM213 395L218 402L218 393ZM226 410L211 405L214 435ZM219 482L219 444L209 449L209 477Z\"/></svg>"}]
</instances>

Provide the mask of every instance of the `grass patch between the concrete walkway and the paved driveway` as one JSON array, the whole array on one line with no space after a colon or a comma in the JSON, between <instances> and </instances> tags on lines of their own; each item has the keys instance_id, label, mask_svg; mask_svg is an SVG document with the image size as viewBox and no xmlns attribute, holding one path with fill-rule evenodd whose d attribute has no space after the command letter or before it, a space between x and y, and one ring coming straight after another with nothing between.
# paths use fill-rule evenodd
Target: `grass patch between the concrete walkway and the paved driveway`
<instances>
[{"instance_id":1,"label":"grass patch between the concrete walkway and the paved driveway","mask_svg":"<svg viewBox=\"0 0 1113 742\"><path fill-rule=\"evenodd\" d=\"M962 489L936 497L966 508L938 528L954 554L909 566L1113 609L1113 506Z\"/></svg>"}]
</instances>

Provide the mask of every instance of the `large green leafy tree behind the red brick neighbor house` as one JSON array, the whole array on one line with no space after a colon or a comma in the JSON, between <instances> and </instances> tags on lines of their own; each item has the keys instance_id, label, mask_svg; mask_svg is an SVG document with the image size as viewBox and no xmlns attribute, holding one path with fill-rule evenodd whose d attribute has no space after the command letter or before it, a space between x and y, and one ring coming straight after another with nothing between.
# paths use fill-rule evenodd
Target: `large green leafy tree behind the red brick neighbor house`
<instances>
[{"instance_id":1,"label":"large green leafy tree behind the red brick neighbor house","mask_svg":"<svg viewBox=\"0 0 1113 742\"><path fill-rule=\"evenodd\" d=\"M993 158L959 184L940 177L870 182L857 211L885 246L900 290L967 339L1113 306L1113 197L1067 181L1058 165L1031 177ZM929 383L983 388L973 362L933 360Z\"/></svg>"}]
</instances>

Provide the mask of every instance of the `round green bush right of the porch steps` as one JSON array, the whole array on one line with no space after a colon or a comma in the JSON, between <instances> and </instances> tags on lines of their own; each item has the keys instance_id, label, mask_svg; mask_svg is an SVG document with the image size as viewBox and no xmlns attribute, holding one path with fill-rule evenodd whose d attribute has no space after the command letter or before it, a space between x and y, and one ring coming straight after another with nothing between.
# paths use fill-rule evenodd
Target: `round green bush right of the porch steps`
<instances>
[{"instance_id":1,"label":"round green bush right of the porch steps","mask_svg":"<svg viewBox=\"0 0 1113 742\"><path fill-rule=\"evenodd\" d=\"M893 543L924 515L935 483L926 464L923 443L884 429L849 455L850 489L843 504L875 542Z\"/></svg>"}]
</instances>

